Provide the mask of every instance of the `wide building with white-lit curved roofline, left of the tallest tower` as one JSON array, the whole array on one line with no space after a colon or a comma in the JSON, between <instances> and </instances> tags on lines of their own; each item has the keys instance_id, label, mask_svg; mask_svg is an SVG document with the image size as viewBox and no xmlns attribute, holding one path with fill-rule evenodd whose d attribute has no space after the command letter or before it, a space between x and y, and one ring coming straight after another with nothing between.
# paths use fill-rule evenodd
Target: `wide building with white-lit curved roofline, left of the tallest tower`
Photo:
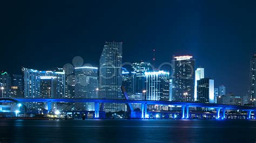
<instances>
[{"instance_id":1,"label":"wide building with white-lit curved roofline, left of the tallest tower","mask_svg":"<svg viewBox=\"0 0 256 143\"><path fill-rule=\"evenodd\" d=\"M97 67L76 67L75 76L75 98L98 98L98 68ZM78 110L94 111L94 103L76 103Z\"/></svg>"}]
</instances>

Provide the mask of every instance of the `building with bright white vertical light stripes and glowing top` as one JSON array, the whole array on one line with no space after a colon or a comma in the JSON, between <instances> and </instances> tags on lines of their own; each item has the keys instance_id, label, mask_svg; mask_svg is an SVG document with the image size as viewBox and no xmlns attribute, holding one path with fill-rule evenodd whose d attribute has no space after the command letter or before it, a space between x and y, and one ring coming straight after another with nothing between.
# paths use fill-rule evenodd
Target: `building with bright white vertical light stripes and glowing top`
<instances>
[{"instance_id":1,"label":"building with bright white vertical light stripes and glowing top","mask_svg":"<svg viewBox=\"0 0 256 143\"><path fill-rule=\"evenodd\" d=\"M169 101L169 72L163 70L145 72L146 99L150 101Z\"/></svg>"}]
</instances>

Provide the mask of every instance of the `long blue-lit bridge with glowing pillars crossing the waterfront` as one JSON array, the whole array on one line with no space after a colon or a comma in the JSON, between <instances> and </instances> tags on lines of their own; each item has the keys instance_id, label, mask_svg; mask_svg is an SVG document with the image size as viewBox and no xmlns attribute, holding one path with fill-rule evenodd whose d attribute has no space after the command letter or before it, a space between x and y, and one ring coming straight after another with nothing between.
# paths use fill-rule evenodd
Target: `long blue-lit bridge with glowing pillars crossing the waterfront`
<instances>
[{"instance_id":1,"label":"long blue-lit bridge with glowing pillars crossing the waterfront","mask_svg":"<svg viewBox=\"0 0 256 143\"><path fill-rule=\"evenodd\" d=\"M99 118L99 103L137 103L142 104L142 118L146 118L147 105L176 105L181 106L182 118L188 119L189 107L199 108L215 108L217 111L217 118L220 118L220 110L223 111L222 117L225 118L225 110L242 110L247 111L247 118L251 119L251 112L255 112L256 107L253 106L238 106L238 105L224 105L224 104L212 104L212 103L195 103L195 102L173 102L173 101L134 101L129 99L85 99L85 98L0 98L1 102L46 102L48 103L48 111L51 110L51 102L83 102L95 103L95 118ZM131 109L133 111L133 109ZM185 112L186 111L186 112Z\"/></svg>"}]
</instances>

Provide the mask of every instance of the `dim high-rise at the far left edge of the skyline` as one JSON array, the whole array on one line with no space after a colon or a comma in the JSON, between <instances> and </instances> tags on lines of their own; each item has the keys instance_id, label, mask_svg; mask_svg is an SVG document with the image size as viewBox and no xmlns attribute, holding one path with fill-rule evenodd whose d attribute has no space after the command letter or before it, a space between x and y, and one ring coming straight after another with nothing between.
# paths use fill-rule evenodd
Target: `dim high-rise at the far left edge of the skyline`
<instances>
[{"instance_id":1,"label":"dim high-rise at the far left edge of the skyline","mask_svg":"<svg viewBox=\"0 0 256 143\"><path fill-rule=\"evenodd\" d=\"M11 76L6 72L2 72L0 75L0 87L4 88L1 97L11 97Z\"/></svg>"}]
</instances>

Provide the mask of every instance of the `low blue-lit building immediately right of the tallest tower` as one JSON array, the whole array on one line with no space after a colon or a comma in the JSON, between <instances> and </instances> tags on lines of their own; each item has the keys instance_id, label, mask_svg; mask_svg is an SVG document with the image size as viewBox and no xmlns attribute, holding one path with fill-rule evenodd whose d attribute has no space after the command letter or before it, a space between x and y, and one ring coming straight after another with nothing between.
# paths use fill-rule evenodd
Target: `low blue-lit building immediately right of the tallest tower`
<instances>
[{"instance_id":1,"label":"low blue-lit building immediately right of the tallest tower","mask_svg":"<svg viewBox=\"0 0 256 143\"><path fill-rule=\"evenodd\" d=\"M130 72L125 68L122 68L122 85L127 93L136 93L136 74L134 71Z\"/></svg>"}]
</instances>

